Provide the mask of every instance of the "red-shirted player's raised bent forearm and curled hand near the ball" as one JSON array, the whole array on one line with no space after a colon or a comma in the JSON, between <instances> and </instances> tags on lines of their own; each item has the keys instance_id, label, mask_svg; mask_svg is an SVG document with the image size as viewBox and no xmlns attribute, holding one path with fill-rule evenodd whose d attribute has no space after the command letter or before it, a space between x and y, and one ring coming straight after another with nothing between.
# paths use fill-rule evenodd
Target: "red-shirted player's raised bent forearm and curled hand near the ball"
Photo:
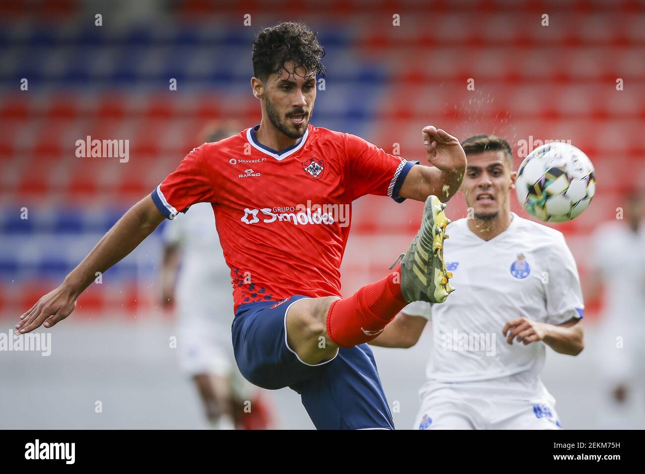
<instances>
[{"instance_id":1,"label":"red-shirted player's raised bent forearm and curled hand near the ball","mask_svg":"<svg viewBox=\"0 0 645 474\"><path fill-rule=\"evenodd\" d=\"M466 153L459 140L450 133L429 125L422 130L423 144L430 166L413 166L401 186L399 195L415 201L426 201L433 194L448 201L461 186L466 172Z\"/></svg>"}]
</instances>

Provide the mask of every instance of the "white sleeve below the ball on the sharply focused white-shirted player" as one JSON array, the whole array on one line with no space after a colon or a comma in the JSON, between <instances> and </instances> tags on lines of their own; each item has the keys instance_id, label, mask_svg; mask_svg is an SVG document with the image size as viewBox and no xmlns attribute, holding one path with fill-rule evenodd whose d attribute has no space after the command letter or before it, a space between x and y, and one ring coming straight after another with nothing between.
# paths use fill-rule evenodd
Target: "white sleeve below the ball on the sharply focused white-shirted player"
<instances>
[{"instance_id":1,"label":"white sleeve below the ball on the sharply focused white-shirted player","mask_svg":"<svg viewBox=\"0 0 645 474\"><path fill-rule=\"evenodd\" d=\"M551 248L548 280L544 286L546 287L546 322L557 325L572 318L582 319L584 301L578 268L562 234L558 236L557 242Z\"/></svg>"}]
</instances>

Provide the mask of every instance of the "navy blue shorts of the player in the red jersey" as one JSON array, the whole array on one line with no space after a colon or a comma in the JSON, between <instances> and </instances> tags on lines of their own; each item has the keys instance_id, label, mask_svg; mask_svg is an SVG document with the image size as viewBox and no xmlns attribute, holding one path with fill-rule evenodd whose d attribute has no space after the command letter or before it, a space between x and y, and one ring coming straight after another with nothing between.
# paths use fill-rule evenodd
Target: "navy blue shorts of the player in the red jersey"
<instances>
[{"instance_id":1,"label":"navy blue shorts of the player in the red jersey","mask_svg":"<svg viewBox=\"0 0 645 474\"><path fill-rule=\"evenodd\" d=\"M286 342L285 319L301 295L286 301L242 304L233 319L233 351L244 378L269 390L290 387L301 395L318 430L394 429L372 350L340 348L332 360L305 364Z\"/></svg>"}]
</instances>

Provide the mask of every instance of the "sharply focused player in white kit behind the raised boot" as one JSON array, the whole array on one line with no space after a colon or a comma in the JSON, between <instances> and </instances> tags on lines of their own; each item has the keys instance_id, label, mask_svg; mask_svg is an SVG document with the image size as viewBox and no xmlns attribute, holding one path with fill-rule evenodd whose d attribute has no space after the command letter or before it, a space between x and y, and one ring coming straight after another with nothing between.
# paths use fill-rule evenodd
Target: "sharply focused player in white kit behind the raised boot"
<instances>
[{"instance_id":1,"label":"sharply focused player in white kit behind the raised boot","mask_svg":"<svg viewBox=\"0 0 645 474\"><path fill-rule=\"evenodd\" d=\"M570 355L584 346L575 261L561 232L510 211L510 145L482 134L462 146L470 218L449 224L444 244L456 291L441 305L408 305L372 344L410 347L432 316L415 429L561 428L539 373L546 346Z\"/></svg>"}]
</instances>

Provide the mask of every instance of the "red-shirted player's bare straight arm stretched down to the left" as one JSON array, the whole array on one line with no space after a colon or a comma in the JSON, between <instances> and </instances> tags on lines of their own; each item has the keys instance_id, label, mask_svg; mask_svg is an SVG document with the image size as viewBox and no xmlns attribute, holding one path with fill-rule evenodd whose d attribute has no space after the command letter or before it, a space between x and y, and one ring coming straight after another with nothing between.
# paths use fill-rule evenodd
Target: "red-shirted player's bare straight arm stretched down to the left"
<instances>
[{"instance_id":1,"label":"red-shirted player's bare straight arm stretched down to the left","mask_svg":"<svg viewBox=\"0 0 645 474\"><path fill-rule=\"evenodd\" d=\"M79 295L94 281L96 272L105 272L132 252L164 219L149 195L137 202L67 275L61 286L39 299L20 317L16 330L28 333L43 323L45 328L51 328L68 317Z\"/></svg>"}]
</instances>

